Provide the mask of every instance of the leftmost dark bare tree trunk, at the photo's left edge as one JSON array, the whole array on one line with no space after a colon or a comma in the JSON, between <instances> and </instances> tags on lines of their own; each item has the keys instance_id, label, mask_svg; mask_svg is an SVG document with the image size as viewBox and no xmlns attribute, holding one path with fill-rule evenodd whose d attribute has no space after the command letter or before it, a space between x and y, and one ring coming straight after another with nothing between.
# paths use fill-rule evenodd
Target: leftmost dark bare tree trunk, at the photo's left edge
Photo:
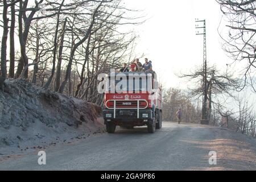
<instances>
[{"instance_id":1,"label":"leftmost dark bare tree trunk, at the photo's left edge","mask_svg":"<svg viewBox=\"0 0 256 182\"><path fill-rule=\"evenodd\" d=\"M8 38L8 22L7 18L8 5L6 0L3 0L3 36L1 44L1 77L0 77L0 89L3 89L3 84L7 76L6 68L6 50L7 50L7 38Z\"/></svg>"}]
</instances>

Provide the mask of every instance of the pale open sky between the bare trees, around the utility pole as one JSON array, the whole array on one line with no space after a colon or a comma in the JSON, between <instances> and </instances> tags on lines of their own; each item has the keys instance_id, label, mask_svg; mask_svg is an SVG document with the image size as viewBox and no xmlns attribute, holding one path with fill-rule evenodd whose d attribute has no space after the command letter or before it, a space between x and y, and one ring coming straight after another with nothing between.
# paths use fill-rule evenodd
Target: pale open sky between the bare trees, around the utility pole
<instances>
[{"instance_id":1,"label":"pale open sky between the bare trees, around the utility pole","mask_svg":"<svg viewBox=\"0 0 256 182\"><path fill-rule=\"evenodd\" d=\"M226 64L231 63L222 50L217 31L222 13L216 1L125 0L125 3L146 14L147 21L135 27L139 35L135 53L138 56L144 53L152 60L153 68L166 88L186 89L189 84L176 74L189 73L203 64L203 36L195 35L196 18L207 22L208 64L225 71Z\"/></svg>"}]
</instances>

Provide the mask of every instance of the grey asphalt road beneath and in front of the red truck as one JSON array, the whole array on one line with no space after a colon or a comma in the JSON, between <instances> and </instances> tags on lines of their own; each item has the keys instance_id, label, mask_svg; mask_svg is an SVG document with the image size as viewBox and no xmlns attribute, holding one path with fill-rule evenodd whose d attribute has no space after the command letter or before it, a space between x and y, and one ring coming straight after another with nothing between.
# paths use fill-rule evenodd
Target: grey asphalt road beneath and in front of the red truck
<instances>
[{"instance_id":1,"label":"grey asphalt road beneath and in front of the red truck","mask_svg":"<svg viewBox=\"0 0 256 182\"><path fill-rule=\"evenodd\" d=\"M217 165L209 152L217 152ZM76 143L46 149L46 165L37 152L0 162L1 170L251 170L256 169L255 140L229 130L164 122L155 134L146 128L119 129Z\"/></svg>"}]
</instances>

